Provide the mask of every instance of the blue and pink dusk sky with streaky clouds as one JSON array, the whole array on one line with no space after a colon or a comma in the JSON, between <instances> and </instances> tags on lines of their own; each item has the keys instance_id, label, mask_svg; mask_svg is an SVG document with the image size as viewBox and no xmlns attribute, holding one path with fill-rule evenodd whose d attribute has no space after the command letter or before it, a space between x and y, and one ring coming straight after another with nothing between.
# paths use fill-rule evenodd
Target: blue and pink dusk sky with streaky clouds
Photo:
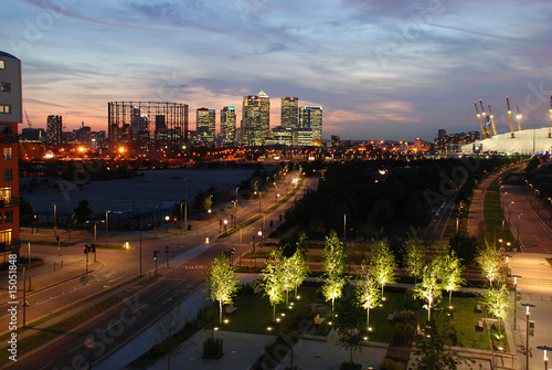
<instances>
[{"instance_id":1,"label":"blue and pink dusk sky with streaky clouds","mask_svg":"<svg viewBox=\"0 0 552 370\"><path fill-rule=\"evenodd\" d=\"M235 106L241 117L242 96L265 91L322 106L323 139L432 140L439 128L478 130L479 98L499 133L507 95L523 128L548 125L551 13L545 1L25 0L6 4L0 32L22 61L35 127L61 115L67 129L106 130L110 101Z\"/></svg>"}]
</instances>

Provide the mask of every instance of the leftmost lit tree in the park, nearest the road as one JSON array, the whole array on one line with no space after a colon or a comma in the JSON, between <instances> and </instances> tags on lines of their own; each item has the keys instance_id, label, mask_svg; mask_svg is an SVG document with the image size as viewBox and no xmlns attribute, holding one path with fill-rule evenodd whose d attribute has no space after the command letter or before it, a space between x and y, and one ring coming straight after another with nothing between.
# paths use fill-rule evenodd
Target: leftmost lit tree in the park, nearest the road
<instances>
[{"instance_id":1,"label":"leftmost lit tree in the park, nearest the road","mask_svg":"<svg viewBox=\"0 0 552 370\"><path fill-rule=\"evenodd\" d=\"M206 283L211 299L219 302L219 324L222 324L222 305L230 305L237 290L236 275L230 260L223 254L213 260Z\"/></svg>"}]
</instances>

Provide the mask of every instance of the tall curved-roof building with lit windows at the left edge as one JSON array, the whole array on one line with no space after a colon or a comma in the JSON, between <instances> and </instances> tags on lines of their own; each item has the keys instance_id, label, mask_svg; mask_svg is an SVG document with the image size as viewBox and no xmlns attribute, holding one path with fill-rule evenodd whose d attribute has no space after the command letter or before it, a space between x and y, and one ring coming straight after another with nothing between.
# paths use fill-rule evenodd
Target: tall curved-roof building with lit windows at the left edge
<instances>
[{"instance_id":1,"label":"tall curved-roof building with lit windows at the left edge","mask_svg":"<svg viewBox=\"0 0 552 370\"><path fill-rule=\"evenodd\" d=\"M19 236L19 136L21 61L0 51L0 253L17 253ZM6 261L6 258L4 258Z\"/></svg>"}]
</instances>

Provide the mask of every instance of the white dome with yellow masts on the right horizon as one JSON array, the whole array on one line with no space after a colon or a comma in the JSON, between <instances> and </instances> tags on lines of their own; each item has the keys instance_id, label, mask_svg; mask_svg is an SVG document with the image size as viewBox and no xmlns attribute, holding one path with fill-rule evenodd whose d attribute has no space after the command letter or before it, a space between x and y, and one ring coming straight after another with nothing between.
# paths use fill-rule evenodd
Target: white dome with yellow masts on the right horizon
<instances>
[{"instance_id":1,"label":"white dome with yellow masts on the right horizon","mask_svg":"<svg viewBox=\"0 0 552 370\"><path fill-rule=\"evenodd\" d=\"M534 155L552 152L552 96L550 96L549 125L542 128L522 129L523 115L519 105L516 106L516 116L512 116L510 97L506 97L509 131L497 134L497 121L488 104L488 114L482 99L474 102L476 116L481 129L482 139L461 147L465 154L511 154ZM516 123L514 119L516 118Z\"/></svg>"}]
</instances>

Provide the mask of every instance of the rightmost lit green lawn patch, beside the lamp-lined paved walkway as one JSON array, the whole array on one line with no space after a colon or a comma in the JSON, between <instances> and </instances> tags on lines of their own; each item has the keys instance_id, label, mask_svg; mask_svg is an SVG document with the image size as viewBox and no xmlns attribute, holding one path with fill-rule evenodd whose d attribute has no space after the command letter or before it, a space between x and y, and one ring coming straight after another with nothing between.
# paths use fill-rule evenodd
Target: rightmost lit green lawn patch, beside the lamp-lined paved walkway
<instances>
[{"instance_id":1,"label":"rightmost lit green lawn patch, beside the lamp-lined paved walkway","mask_svg":"<svg viewBox=\"0 0 552 370\"><path fill-rule=\"evenodd\" d=\"M477 297L455 297L453 294L454 318L456 323L456 335L458 346L464 348L475 348L490 350L489 332L487 326L482 331L476 331L477 318L485 317L484 313L476 313L475 308L479 303ZM443 297L443 300L437 306L437 309L448 309L448 296ZM432 310L432 316L434 311ZM424 327L427 323L427 310L422 309L420 326Z\"/></svg>"}]
</instances>

